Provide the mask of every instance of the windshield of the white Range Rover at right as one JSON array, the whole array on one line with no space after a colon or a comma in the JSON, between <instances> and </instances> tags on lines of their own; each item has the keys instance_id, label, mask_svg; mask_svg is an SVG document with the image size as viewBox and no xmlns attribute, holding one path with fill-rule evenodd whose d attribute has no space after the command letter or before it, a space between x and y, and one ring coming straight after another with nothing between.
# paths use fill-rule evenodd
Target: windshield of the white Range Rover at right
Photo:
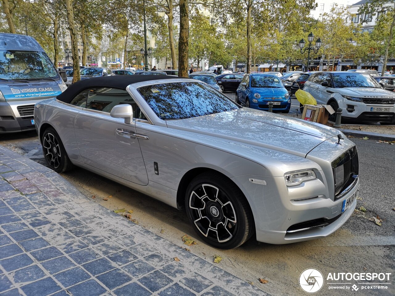
<instances>
[{"instance_id":1,"label":"windshield of the white Range Rover at right","mask_svg":"<svg viewBox=\"0 0 395 296\"><path fill-rule=\"evenodd\" d=\"M335 87L380 87L380 84L369 74L355 72L333 74Z\"/></svg>"}]
</instances>

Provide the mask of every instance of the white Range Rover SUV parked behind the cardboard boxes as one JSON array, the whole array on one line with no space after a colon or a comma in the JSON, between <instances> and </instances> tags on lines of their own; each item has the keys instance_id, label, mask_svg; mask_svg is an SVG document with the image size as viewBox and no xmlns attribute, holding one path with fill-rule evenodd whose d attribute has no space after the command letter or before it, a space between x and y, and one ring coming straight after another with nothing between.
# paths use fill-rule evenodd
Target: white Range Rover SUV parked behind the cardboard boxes
<instances>
[{"instance_id":1,"label":"white Range Rover SUV parked behind the cardboard boxes","mask_svg":"<svg viewBox=\"0 0 395 296\"><path fill-rule=\"evenodd\" d=\"M384 90L369 74L355 72L317 72L303 88L318 104L327 104L348 122L395 124L395 93ZM336 113L329 120L335 121Z\"/></svg>"}]
</instances>

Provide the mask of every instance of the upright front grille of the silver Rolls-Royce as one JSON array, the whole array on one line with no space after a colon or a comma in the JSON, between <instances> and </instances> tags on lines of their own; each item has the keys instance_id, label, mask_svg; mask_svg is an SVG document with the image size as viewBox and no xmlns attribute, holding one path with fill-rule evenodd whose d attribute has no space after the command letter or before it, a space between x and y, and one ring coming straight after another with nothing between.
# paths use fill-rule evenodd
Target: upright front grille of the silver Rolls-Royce
<instances>
[{"instance_id":1,"label":"upright front grille of the silver Rolls-Royce","mask_svg":"<svg viewBox=\"0 0 395 296\"><path fill-rule=\"evenodd\" d=\"M342 197L346 189L358 178L357 148L347 150L332 162L333 179L335 180L335 200ZM347 190L348 191L348 190Z\"/></svg>"}]
</instances>

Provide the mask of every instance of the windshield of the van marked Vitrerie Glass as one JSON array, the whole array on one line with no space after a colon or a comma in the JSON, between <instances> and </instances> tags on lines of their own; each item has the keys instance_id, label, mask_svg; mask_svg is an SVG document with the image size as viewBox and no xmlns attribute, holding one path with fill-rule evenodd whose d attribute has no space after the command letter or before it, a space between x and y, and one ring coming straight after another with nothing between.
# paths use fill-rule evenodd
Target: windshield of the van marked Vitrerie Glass
<instances>
[{"instance_id":1,"label":"windshield of the van marked Vitrerie Glass","mask_svg":"<svg viewBox=\"0 0 395 296\"><path fill-rule=\"evenodd\" d=\"M0 50L2 79L58 79L58 73L45 52Z\"/></svg>"}]
</instances>

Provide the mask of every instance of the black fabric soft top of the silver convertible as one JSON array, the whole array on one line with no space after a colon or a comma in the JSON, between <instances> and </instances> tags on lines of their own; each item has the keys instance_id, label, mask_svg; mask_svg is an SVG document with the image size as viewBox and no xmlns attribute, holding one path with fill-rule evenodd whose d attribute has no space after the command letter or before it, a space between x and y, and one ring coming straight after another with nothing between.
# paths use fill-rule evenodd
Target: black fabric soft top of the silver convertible
<instances>
[{"instance_id":1,"label":"black fabric soft top of the silver convertible","mask_svg":"<svg viewBox=\"0 0 395 296\"><path fill-rule=\"evenodd\" d=\"M111 87L126 90L126 86L132 83L160 80L160 79L177 79L178 77L167 75L113 75L84 79L71 84L56 99L70 103L71 100L83 90L90 87Z\"/></svg>"}]
</instances>

